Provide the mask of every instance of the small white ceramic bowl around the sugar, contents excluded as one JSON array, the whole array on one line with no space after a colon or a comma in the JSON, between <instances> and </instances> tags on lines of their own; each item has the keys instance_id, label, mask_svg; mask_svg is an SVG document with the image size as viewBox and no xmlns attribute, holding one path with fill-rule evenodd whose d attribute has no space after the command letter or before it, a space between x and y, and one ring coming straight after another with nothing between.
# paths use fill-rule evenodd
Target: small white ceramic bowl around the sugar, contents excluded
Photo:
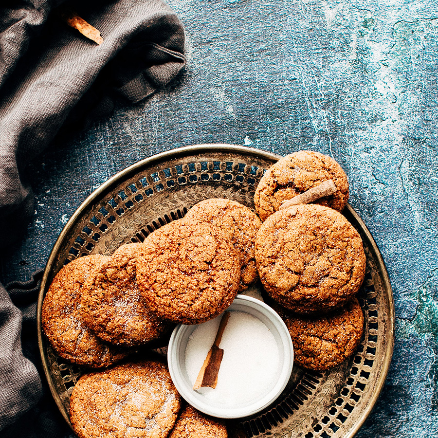
<instances>
[{"instance_id":1,"label":"small white ceramic bowl around the sugar, contents excluded","mask_svg":"<svg viewBox=\"0 0 438 438\"><path fill-rule=\"evenodd\" d=\"M256 298L237 295L227 310L247 312L255 316L274 335L279 354L278 370L276 378L273 379L273 383L267 392L247 404L227 406L226 402L214 402L201 393L194 391L193 382L190 382L185 366L185 348L190 335L198 327L197 325L180 325L174 329L167 352L169 371L172 381L182 397L204 414L218 418L248 417L273 403L288 383L293 365L292 340L280 316L271 307ZM244 370L240 371L244 372Z\"/></svg>"}]
</instances>

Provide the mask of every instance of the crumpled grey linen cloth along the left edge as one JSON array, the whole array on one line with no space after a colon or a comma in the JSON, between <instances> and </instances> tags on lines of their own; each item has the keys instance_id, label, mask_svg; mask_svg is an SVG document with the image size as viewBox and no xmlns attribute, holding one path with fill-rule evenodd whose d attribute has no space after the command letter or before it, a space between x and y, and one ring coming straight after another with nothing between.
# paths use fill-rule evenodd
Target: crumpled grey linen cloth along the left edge
<instances>
[{"instance_id":1,"label":"crumpled grey linen cloth along the left edge","mask_svg":"<svg viewBox=\"0 0 438 438\"><path fill-rule=\"evenodd\" d=\"M161 0L69 2L99 29L100 45L59 18L62 2L0 6L0 249L22 236L33 212L26 164L56 135L87 127L120 99L144 99L185 64L182 23ZM0 434L52 436L57 420L38 402L37 279L8 289L0 284ZM39 425L17 422L32 407Z\"/></svg>"}]
</instances>

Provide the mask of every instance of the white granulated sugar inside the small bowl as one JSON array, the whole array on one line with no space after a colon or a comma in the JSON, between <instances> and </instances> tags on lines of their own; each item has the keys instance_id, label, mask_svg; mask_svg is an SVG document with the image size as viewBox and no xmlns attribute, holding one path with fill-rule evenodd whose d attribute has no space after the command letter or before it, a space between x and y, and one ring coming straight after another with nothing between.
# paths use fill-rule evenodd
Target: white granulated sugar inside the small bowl
<instances>
[{"instance_id":1,"label":"white granulated sugar inside the small bowl","mask_svg":"<svg viewBox=\"0 0 438 438\"><path fill-rule=\"evenodd\" d=\"M185 350L189 380L195 383L218 331L221 316L201 324ZM232 311L219 345L224 350L215 389L201 388L206 399L241 406L264 396L278 377L279 352L274 335L255 316Z\"/></svg>"}]
</instances>

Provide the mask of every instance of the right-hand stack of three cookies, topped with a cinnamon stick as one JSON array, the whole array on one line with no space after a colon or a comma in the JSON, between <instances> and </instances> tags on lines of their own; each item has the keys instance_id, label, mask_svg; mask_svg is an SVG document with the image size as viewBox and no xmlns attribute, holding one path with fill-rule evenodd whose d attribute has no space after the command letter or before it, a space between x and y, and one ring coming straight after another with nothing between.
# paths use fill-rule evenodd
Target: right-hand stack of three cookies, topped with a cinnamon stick
<instances>
[{"instance_id":1,"label":"right-hand stack of three cookies, topped with a cinnamon stick","mask_svg":"<svg viewBox=\"0 0 438 438\"><path fill-rule=\"evenodd\" d=\"M336 186L333 195L281 208L284 201L330 179ZM340 213L347 200L341 166L312 151L283 157L256 188L256 211L264 220L256 237L260 280L289 329L295 363L312 370L342 363L363 333L364 316L355 296L366 260L359 233Z\"/></svg>"}]
</instances>

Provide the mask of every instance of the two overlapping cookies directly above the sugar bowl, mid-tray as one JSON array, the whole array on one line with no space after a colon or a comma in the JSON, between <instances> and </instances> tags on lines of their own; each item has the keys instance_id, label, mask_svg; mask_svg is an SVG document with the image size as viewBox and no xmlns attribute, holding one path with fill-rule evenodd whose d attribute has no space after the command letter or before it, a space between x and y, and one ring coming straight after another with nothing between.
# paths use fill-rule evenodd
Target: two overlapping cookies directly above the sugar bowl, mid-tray
<instances>
[{"instance_id":1,"label":"two overlapping cookies directly above the sugar bowl, mid-tray","mask_svg":"<svg viewBox=\"0 0 438 438\"><path fill-rule=\"evenodd\" d=\"M180 324L218 316L256 280L260 224L248 207L211 199L149 235L137 258L137 282L148 308Z\"/></svg>"}]
</instances>

